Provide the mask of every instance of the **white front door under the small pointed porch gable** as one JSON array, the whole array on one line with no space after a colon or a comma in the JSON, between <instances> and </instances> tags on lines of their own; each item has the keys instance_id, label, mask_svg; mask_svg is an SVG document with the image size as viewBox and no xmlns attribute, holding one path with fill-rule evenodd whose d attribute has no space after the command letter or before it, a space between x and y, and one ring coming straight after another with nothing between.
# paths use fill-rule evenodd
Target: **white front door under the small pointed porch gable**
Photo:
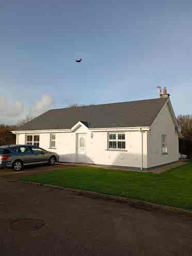
<instances>
[{"instance_id":1,"label":"white front door under the small pointed porch gable","mask_svg":"<svg viewBox=\"0 0 192 256\"><path fill-rule=\"evenodd\" d=\"M85 133L78 134L77 161L86 163L86 134Z\"/></svg>"}]
</instances>

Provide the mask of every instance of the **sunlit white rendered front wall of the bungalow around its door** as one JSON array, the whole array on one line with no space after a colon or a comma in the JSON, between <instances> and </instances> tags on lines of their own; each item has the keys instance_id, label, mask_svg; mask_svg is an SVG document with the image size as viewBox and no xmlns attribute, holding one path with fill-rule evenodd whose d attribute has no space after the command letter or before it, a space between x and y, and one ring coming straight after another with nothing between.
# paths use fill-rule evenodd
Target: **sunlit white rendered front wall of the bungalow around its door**
<instances>
[{"instance_id":1,"label":"sunlit white rendered front wall of the bungalow around its door","mask_svg":"<svg viewBox=\"0 0 192 256\"><path fill-rule=\"evenodd\" d=\"M74 132L54 133L56 149L50 149L50 133L39 133L40 147L57 152L61 162L77 162L76 136L78 133L87 134L87 163L141 167L141 133L138 131L125 132L126 151L107 150L108 132L93 132L91 138L91 132L83 126ZM25 134L19 135L19 144L25 144ZM147 132L143 133L143 167L147 167Z\"/></svg>"}]
</instances>

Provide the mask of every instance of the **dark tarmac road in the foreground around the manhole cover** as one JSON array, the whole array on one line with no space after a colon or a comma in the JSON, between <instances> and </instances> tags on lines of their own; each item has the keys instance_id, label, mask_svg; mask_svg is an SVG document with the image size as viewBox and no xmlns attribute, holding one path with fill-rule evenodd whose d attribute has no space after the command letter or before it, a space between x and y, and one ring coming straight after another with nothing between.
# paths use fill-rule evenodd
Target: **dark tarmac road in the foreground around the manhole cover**
<instances>
[{"instance_id":1,"label":"dark tarmac road in the foreground around the manhole cover","mask_svg":"<svg viewBox=\"0 0 192 256\"><path fill-rule=\"evenodd\" d=\"M12 231L15 219L45 221ZM192 255L192 219L0 179L0 255Z\"/></svg>"}]
</instances>

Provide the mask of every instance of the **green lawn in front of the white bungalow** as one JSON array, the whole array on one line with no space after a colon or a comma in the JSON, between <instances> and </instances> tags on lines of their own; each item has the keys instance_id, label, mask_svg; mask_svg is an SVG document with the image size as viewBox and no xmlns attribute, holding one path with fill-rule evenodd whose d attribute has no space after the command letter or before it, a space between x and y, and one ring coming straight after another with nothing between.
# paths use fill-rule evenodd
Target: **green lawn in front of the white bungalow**
<instances>
[{"instance_id":1,"label":"green lawn in front of the white bungalow","mask_svg":"<svg viewBox=\"0 0 192 256\"><path fill-rule=\"evenodd\" d=\"M192 209L192 161L162 174L77 166L21 178Z\"/></svg>"}]
</instances>

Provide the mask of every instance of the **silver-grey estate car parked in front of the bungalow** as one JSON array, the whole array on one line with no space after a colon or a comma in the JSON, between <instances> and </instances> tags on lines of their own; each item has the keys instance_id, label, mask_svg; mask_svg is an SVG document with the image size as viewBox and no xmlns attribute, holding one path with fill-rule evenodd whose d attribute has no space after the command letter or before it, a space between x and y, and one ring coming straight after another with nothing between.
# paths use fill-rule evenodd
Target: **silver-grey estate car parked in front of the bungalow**
<instances>
[{"instance_id":1,"label":"silver-grey estate car parked in front of the bungalow","mask_svg":"<svg viewBox=\"0 0 192 256\"><path fill-rule=\"evenodd\" d=\"M21 170L26 165L49 163L55 165L59 155L33 145L8 145L0 147L0 168Z\"/></svg>"}]
</instances>

